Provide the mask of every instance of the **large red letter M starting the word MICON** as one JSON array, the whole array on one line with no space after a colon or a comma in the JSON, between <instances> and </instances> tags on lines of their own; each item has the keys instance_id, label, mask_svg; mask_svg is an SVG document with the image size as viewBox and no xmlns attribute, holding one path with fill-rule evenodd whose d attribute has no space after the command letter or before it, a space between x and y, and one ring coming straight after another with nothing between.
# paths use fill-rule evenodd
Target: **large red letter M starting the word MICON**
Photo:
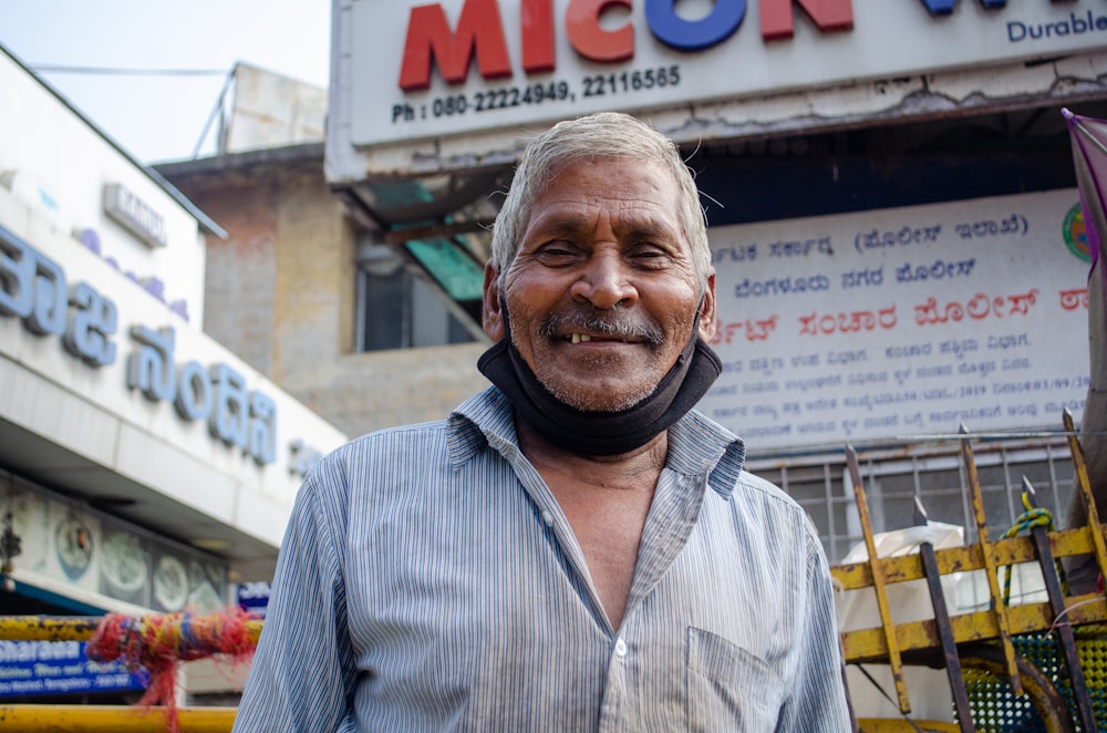
<instances>
[{"instance_id":1,"label":"large red letter M starting the word MICON","mask_svg":"<svg viewBox=\"0 0 1107 733\"><path fill-rule=\"evenodd\" d=\"M504 23L496 0L466 0L457 32L452 33L442 6L412 8L407 21L407 42L400 69L400 89L405 92L431 86L431 60L438 62L442 78L451 84L465 81L473 50L477 69L485 79L511 75L511 61L504 40Z\"/></svg>"}]
</instances>

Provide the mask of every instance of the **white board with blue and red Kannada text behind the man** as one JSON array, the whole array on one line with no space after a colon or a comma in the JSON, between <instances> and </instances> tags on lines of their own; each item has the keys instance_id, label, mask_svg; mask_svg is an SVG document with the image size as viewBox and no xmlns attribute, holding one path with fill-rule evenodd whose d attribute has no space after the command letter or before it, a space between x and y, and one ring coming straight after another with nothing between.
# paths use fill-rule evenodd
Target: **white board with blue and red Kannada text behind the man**
<instances>
[{"instance_id":1,"label":"white board with blue and red Kannada text behind the man","mask_svg":"<svg viewBox=\"0 0 1107 733\"><path fill-rule=\"evenodd\" d=\"M723 374L758 450L1059 429L1089 382L1076 189L713 228Z\"/></svg>"}]
</instances>

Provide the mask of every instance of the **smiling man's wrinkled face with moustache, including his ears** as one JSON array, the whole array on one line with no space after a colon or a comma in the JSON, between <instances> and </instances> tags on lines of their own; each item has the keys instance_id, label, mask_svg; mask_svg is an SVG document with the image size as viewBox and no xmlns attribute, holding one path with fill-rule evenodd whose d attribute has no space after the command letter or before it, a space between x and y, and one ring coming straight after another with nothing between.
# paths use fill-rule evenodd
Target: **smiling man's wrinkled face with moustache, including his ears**
<instances>
[{"instance_id":1,"label":"smiling man's wrinkled face with moustache, including his ears","mask_svg":"<svg viewBox=\"0 0 1107 733\"><path fill-rule=\"evenodd\" d=\"M679 189L656 163L601 158L563 168L535 200L504 280L516 348L546 389L579 410L649 396L692 338L715 327L715 277L701 304ZM497 272L484 323L504 337Z\"/></svg>"}]
</instances>

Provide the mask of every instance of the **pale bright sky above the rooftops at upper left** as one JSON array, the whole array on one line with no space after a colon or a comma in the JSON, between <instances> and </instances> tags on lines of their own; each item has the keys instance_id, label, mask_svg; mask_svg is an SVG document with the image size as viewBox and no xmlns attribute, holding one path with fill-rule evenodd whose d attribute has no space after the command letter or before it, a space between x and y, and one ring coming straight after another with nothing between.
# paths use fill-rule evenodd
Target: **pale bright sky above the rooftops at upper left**
<instances>
[{"instance_id":1,"label":"pale bright sky above the rooftops at upper left","mask_svg":"<svg viewBox=\"0 0 1107 733\"><path fill-rule=\"evenodd\" d=\"M330 0L0 0L0 45L157 163L214 152L205 127L238 62L327 87L330 20ZM194 71L205 73L183 73Z\"/></svg>"}]
</instances>

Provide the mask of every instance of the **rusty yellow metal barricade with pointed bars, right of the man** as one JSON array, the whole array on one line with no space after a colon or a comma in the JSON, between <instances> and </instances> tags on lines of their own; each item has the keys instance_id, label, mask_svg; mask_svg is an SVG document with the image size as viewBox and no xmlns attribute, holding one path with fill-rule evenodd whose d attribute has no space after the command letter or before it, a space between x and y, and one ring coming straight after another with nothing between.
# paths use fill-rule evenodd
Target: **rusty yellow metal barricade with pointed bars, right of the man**
<instances>
[{"instance_id":1,"label":"rusty yellow metal barricade with pointed bars, right of the man","mask_svg":"<svg viewBox=\"0 0 1107 733\"><path fill-rule=\"evenodd\" d=\"M1056 559L1077 555L1094 555L1100 571L1104 577L1107 577L1107 541L1105 541L1107 525L1099 522L1084 455L1076 438L1072 414L1068 411L1064 414L1064 425L1068 435L1077 491L1087 507L1088 523L1087 526L1077 529L1047 533L1049 550ZM964 429L962 429L962 433L964 433ZM1006 606L1000 592L997 569L1022 562L1037 562L1039 560L1037 550L1031 537L1012 537L994 541L989 538L983 498L969 436L963 435L960 443L962 466L976 522L977 541L975 545L935 550L934 557L939 574L943 576L974 570L984 571L991 596L987 610L953 616L949 620L949 631L952 633L958 649L962 651L961 663L964 667L985 669L992 674L1003 677L1008 681L1015 694L1028 695L1046 724L1046 730L1051 733L1072 731L1074 730L1073 722L1064 699L1059 696L1049 680L1043 678L1038 670L1015 654L1012 637L1023 633L1052 632L1059 622L1073 627L1107 623L1107 596L1103 592L1094 592L1065 598L1064 619L1057 617L1049 602ZM847 464L853 479L853 491L857 495L858 513L866 546L869 550L869 559L863 562L834 567L830 572L842 590L873 589L880 610L881 626L842 632L842 652L847 663L889 664L896 682L900 710L904 714L902 721L894 719L858 721L859 731L863 733L914 731L917 726L921 730L970 730L970 723L962 727L949 723L912 721L906 716L910 712L910 701L902 682L902 664L941 667L944 650L935 620L907 623L891 621L884 589L890 584L924 579L927 576L922 558L918 554L892 558L873 557L875 544L868 522L868 507L860 486L857 455L850 447L847 447Z\"/></svg>"}]
</instances>

